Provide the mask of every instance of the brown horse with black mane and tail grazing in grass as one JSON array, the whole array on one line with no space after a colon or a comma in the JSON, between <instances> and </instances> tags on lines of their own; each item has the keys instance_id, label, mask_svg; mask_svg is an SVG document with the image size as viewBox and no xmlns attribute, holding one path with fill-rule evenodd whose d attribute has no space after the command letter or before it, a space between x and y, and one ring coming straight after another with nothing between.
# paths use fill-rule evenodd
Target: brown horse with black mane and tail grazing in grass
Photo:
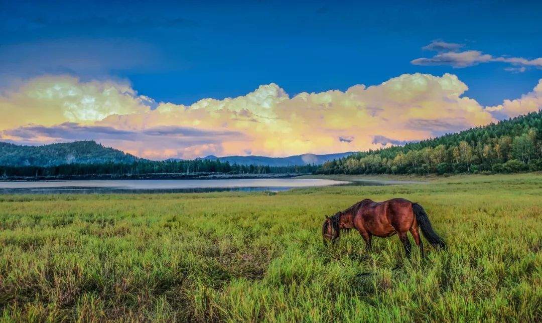
<instances>
[{"instance_id":1,"label":"brown horse with black mane and tail grazing in grass","mask_svg":"<svg viewBox=\"0 0 542 323\"><path fill-rule=\"evenodd\" d=\"M371 251L372 236L389 237L397 234L403 243L406 256L410 257L410 241L406 235L410 231L423 257L423 243L418 226L422 228L423 236L429 243L440 248L446 247L444 241L431 227L429 217L422 206L404 198L392 198L384 202L364 199L332 217L326 216L326 221L322 225L322 236L324 244L326 241L335 243L339 240L340 231L354 228L365 240L367 251Z\"/></svg>"}]
</instances>

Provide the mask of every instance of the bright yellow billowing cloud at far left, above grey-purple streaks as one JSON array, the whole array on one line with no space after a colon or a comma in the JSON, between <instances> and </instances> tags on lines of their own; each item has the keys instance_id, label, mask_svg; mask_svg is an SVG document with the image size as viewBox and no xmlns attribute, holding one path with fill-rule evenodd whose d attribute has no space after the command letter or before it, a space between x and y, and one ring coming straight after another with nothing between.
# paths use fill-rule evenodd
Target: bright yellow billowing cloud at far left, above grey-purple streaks
<instances>
[{"instance_id":1,"label":"bright yellow billowing cloud at far left, above grey-purple streaks","mask_svg":"<svg viewBox=\"0 0 542 323\"><path fill-rule=\"evenodd\" d=\"M112 114L144 113L155 105L126 82L81 82L72 76L41 76L0 94L0 129L28 124L87 124Z\"/></svg>"}]
</instances>

